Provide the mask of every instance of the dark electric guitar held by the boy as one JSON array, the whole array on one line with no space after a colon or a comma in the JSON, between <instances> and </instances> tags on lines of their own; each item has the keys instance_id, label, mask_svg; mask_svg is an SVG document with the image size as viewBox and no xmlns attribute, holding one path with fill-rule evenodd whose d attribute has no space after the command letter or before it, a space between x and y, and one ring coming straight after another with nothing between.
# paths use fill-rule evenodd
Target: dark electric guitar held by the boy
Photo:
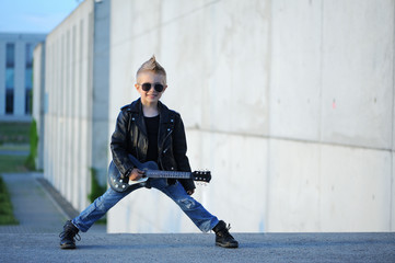
<instances>
[{"instance_id":1,"label":"dark electric guitar held by the boy","mask_svg":"<svg viewBox=\"0 0 395 263\"><path fill-rule=\"evenodd\" d=\"M144 174L141 179L130 181L129 178L121 176L115 163L112 161L108 167L108 184L116 192L125 192L131 185L143 183L149 178L164 178L164 179L193 179L194 181L200 181L209 183L211 180L211 172L209 171L195 171L195 172L176 172L176 171L161 171L156 162L148 161L144 163L139 162L133 156L128 155L130 161L136 168L143 171Z\"/></svg>"}]
</instances>

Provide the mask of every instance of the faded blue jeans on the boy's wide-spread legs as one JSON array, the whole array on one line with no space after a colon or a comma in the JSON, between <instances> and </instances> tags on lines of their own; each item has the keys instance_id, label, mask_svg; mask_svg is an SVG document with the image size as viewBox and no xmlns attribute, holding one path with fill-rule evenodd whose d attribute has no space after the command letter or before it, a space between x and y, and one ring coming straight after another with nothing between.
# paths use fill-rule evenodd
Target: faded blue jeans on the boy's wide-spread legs
<instances>
[{"instance_id":1,"label":"faded blue jeans on the boy's wide-spread legs","mask_svg":"<svg viewBox=\"0 0 395 263\"><path fill-rule=\"evenodd\" d=\"M149 179L147 183L171 197L201 231L208 232L219 222L216 216L207 211L200 203L186 193L178 181L169 185L165 179ZM130 190L123 193L108 187L102 196L97 197L78 217L72 219L72 224L82 232L86 232L96 220L102 218L121 198L143 186L144 184L135 184Z\"/></svg>"}]
</instances>

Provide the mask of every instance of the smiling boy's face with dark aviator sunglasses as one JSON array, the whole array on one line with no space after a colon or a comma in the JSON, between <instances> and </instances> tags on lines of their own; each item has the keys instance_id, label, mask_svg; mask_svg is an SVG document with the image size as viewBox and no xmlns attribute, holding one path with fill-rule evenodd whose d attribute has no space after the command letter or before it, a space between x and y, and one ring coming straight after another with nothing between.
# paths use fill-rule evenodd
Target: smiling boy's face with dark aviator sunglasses
<instances>
[{"instance_id":1,"label":"smiling boy's face with dark aviator sunglasses","mask_svg":"<svg viewBox=\"0 0 395 263\"><path fill-rule=\"evenodd\" d=\"M165 77L152 71L144 71L139 73L135 87L140 93L141 103L143 105L156 104L167 88L165 83ZM158 91L158 89L160 90L161 87L163 90Z\"/></svg>"}]
</instances>

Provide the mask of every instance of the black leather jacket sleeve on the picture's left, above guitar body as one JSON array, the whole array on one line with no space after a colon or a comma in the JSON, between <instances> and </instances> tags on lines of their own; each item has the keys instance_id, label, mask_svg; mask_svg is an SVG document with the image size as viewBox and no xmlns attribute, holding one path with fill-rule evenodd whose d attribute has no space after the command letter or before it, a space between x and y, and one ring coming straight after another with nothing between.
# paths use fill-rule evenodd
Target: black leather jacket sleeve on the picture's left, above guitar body
<instances>
[{"instance_id":1,"label":"black leather jacket sleeve on the picture's left, above guitar body","mask_svg":"<svg viewBox=\"0 0 395 263\"><path fill-rule=\"evenodd\" d=\"M133 169L133 164L128 158L129 152L127 150L130 140L130 133L128 132L129 117L130 114L128 114L127 111L121 111L119 113L111 141L113 161L124 176Z\"/></svg>"}]
</instances>

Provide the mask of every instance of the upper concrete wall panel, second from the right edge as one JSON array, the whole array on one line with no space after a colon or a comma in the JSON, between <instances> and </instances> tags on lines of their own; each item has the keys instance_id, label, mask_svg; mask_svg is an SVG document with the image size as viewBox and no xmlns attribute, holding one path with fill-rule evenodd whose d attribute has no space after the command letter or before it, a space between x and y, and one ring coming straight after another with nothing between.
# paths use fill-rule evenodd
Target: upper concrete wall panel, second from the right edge
<instances>
[{"instance_id":1,"label":"upper concrete wall panel, second from the right edge","mask_svg":"<svg viewBox=\"0 0 395 263\"><path fill-rule=\"evenodd\" d=\"M270 135L320 140L323 1L272 1Z\"/></svg>"}]
</instances>

